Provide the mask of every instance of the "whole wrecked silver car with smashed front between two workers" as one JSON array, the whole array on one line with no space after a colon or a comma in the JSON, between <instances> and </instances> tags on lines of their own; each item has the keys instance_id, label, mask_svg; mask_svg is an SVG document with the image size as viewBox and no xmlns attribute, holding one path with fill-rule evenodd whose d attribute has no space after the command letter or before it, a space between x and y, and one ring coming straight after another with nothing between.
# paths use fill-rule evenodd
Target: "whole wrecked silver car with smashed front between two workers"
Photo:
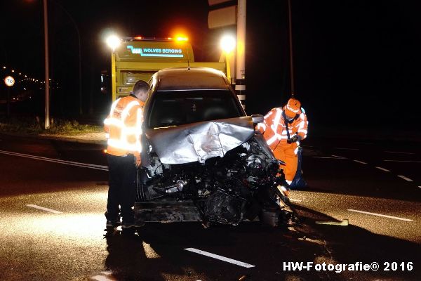
<instances>
[{"instance_id":1,"label":"whole wrecked silver car with smashed front between two workers","mask_svg":"<svg viewBox=\"0 0 421 281\"><path fill-rule=\"evenodd\" d=\"M284 178L225 75L206 67L156 72L145 104L135 220L238 225L291 219Z\"/></svg>"}]
</instances>

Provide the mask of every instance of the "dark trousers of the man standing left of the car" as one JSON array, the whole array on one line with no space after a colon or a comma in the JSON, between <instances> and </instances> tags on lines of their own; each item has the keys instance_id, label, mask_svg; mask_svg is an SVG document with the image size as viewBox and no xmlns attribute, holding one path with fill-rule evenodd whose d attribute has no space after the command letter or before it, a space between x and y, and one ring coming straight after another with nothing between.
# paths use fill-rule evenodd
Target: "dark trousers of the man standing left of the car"
<instances>
[{"instance_id":1,"label":"dark trousers of the man standing left of the car","mask_svg":"<svg viewBox=\"0 0 421 281\"><path fill-rule=\"evenodd\" d=\"M107 200L108 221L119 221L119 205L123 222L133 222L133 206L136 195L136 166L135 157L114 156L107 154L109 169L109 189Z\"/></svg>"}]
</instances>

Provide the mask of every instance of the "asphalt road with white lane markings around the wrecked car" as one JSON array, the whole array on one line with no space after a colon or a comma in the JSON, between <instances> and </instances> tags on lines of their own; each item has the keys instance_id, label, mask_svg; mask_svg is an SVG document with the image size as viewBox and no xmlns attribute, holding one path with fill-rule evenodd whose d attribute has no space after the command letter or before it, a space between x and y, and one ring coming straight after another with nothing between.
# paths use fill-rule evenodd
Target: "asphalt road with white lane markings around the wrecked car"
<instances>
[{"instance_id":1,"label":"asphalt road with white lane markings around the wrecked car","mask_svg":"<svg viewBox=\"0 0 421 281\"><path fill-rule=\"evenodd\" d=\"M105 235L104 148L3 135L0 140L0 280L420 280L417 143L303 143L309 188L293 191L291 198L305 222L291 229L258 222L208 229L154 223L138 235ZM344 218L348 226L316 223ZM312 268L294 269L289 262ZM323 262L377 262L380 268L314 268Z\"/></svg>"}]
</instances>

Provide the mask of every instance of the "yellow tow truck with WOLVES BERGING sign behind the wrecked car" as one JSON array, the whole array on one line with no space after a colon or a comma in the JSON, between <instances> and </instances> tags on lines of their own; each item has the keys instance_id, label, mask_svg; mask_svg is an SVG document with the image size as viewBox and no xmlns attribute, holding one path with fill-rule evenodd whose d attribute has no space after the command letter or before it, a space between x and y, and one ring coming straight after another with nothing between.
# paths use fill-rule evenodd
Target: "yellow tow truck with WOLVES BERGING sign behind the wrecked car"
<instances>
[{"instance_id":1,"label":"yellow tow truck with WOLVES BERGING sign behind the wrecked car","mask_svg":"<svg viewBox=\"0 0 421 281\"><path fill-rule=\"evenodd\" d=\"M167 67L210 67L227 74L225 61L195 62L192 45L185 37L127 37L111 55L112 101L128 96L136 81L149 81L152 74Z\"/></svg>"}]
</instances>

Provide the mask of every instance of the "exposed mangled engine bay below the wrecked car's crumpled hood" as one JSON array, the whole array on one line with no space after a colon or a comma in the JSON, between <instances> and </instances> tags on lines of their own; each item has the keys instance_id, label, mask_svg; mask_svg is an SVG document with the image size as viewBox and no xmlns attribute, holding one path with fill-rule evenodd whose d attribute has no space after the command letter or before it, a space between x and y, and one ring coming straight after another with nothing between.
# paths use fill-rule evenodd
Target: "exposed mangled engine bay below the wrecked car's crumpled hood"
<instances>
[{"instance_id":1,"label":"exposed mangled engine bay below the wrecked car's crumpled hood","mask_svg":"<svg viewBox=\"0 0 421 281\"><path fill-rule=\"evenodd\" d=\"M208 224L237 225L244 218L262 219L269 212L269 220L275 220L269 224L276 225L276 216L286 207L288 198L277 188L284 182L279 161L262 142L262 136L256 134L224 157L204 163L162 164L152 152L150 166L143 170L139 200L191 201L201 221ZM288 208L283 209L290 213Z\"/></svg>"}]
</instances>

